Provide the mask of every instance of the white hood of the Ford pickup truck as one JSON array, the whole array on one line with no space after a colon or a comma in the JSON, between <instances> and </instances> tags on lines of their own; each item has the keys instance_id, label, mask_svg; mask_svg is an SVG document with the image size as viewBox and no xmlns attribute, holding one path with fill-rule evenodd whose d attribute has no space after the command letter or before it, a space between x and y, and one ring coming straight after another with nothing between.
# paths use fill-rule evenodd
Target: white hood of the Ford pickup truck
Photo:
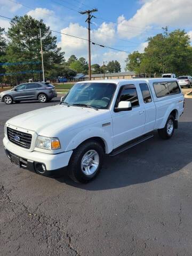
<instances>
[{"instance_id":1,"label":"white hood of the Ford pickup truck","mask_svg":"<svg viewBox=\"0 0 192 256\"><path fill-rule=\"evenodd\" d=\"M35 131L46 137L57 137L60 131L71 131L109 118L107 109L56 105L33 110L9 119L6 124Z\"/></svg>"}]
</instances>

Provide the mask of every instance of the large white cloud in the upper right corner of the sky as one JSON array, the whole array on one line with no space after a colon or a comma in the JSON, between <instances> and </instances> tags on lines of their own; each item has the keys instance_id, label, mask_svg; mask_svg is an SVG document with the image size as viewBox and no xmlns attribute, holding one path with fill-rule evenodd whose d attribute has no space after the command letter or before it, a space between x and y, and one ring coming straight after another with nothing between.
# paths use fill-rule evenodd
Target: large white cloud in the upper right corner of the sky
<instances>
[{"instance_id":1,"label":"large white cloud in the upper right corner of the sky","mask_svg":"<svg viewBox=\"0 0 192 256\"><path fill-rule=\"evenodd\" d=\"M141 8L131 19L126 20L123 15L118 17L117 31L120 36L130 39L142 33L147 34L151 25L188 26L191 20L191 0L143 0L140 3Z\"/></svg>"}]
</instances>

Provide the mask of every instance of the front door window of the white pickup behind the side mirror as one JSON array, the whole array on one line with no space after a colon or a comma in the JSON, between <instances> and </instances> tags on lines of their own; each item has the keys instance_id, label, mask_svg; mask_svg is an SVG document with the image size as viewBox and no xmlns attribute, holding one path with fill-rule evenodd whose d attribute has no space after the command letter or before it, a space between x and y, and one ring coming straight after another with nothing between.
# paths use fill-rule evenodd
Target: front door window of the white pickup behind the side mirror
<instances>
[{"instance_id":1,"label":"front door window of the white pickup behind the side mirror","mask_svg":"<svg viewBox=\"0 0 192 256\"><path fill-rule=\"evenodd\" d=\"M119 101L131 101L132 107L139 106L137 91L135 88L124 88L119 97Z\"/></svg>"}]
</instances>

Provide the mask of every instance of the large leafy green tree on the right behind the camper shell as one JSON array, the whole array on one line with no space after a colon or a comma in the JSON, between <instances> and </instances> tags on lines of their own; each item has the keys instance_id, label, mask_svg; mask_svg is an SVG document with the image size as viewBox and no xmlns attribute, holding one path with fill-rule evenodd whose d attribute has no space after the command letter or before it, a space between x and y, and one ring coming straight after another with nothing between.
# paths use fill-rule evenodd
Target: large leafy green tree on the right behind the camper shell
<instances>
[{"instance_id":1,"label":"large leafy green tree on the right behind the camper shell","mask_svg":"<svg viewBox=\"0 0 192 256\"><path fill-rule=\"evenodd\" d=\"M187 75L192 71L192 47L185 30L174 30L147 39L148 46L143 53L129 54L126 68L137 73L156 74L174 73Z\"/></svg>"}]
</instances>

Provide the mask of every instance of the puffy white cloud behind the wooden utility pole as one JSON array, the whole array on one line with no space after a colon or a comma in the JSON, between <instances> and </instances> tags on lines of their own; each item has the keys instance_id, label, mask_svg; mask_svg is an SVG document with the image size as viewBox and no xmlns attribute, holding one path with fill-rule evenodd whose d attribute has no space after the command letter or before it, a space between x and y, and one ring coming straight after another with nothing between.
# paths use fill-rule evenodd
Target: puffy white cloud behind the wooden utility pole
<instances>
[{"instance_id":1,"label":"puffy white cloud behind the wooden utility pole","mask_svg":"<svg viewBox=\"0 0 192 256\"><path fill-rule=\"evenodd\" d=\"M61 29L61 33L74 35L81 38L88 38L86 27L80 26L78 23L70 23L68 27ZM105 36L107 33L107 36ZM115 41L115 28L113 23L103 22L98 29L91 30L91 40L95 43L110 46ZM58 46L65 51L66 60L71 54L75 54L77 58L88 58L88 42L75 37L69 37L61 34L61 41ZM91 49L97 52L103 52L103 47L91 45ZM96 54L98 55L98 54ZM93 56L93 55L92 55ZM98 62L98 61L97 61Z\"/></svg>"}]
</instances>

